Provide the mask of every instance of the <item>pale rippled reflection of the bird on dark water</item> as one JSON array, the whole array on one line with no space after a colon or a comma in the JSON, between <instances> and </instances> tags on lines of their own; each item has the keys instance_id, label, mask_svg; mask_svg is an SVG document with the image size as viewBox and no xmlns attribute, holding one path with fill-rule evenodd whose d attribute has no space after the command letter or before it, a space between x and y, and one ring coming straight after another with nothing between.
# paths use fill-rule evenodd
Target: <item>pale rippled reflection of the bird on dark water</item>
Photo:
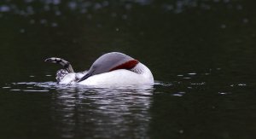
<instances>
[{"instance_id":1,"label":"pale rippled reflection of the bird on dark water","mask_svg":"<svg viewBox=\"0 0 256 139\"><path fill-rule=\"evenodd\" d=\"M61 137L148 138L152 91L60 87L52 97L55 128Z\"/></svg>"}]
</instances>

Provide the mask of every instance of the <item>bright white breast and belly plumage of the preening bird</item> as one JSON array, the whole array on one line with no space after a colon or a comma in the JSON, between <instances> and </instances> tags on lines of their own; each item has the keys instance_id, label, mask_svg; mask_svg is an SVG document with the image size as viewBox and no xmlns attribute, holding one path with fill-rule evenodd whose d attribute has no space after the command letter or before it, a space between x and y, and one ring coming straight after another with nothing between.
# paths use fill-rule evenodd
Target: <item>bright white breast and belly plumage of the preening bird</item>
<instances>
[{"instance_id":1,"label":"bright white breast and belly plumage of the preening bird","mask_svg":"<svg viewBox=\"0 0 256 139\"><path fill-rule=\"evenodd\" d=\"M75 73L69 73L63 78L60 84L83 84L90 86L109 85L109 86L129 86L141 84L154 84L154 78L148 67L138 63L135 70L140 73L131 72L125 69L104 72L86 78L84 81L75 82Z\"/></svg>"}]
</instances>

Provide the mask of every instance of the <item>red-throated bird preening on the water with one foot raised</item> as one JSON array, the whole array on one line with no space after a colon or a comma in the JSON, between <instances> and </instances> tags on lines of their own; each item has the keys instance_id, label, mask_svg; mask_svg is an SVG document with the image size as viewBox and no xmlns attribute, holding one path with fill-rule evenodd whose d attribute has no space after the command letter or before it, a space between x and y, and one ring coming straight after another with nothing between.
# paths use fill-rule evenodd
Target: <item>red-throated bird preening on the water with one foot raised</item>
<instances>
[{"instance_id":1,"label":"red-throated bird preening on the water with one foot raised","mask_svg":"<svg viewBox=\"0 0 256 139\"><path fill-rule=\"evenodd\" d=\"M61 64L64 69L56 72L58 84L82 84L88 86L129 86L154 84L154 77L148 67L140 61L120 52L100 56L89 70L74 72L70 62L51 57L45 61Z\"/></svg>"}]
</instances>

